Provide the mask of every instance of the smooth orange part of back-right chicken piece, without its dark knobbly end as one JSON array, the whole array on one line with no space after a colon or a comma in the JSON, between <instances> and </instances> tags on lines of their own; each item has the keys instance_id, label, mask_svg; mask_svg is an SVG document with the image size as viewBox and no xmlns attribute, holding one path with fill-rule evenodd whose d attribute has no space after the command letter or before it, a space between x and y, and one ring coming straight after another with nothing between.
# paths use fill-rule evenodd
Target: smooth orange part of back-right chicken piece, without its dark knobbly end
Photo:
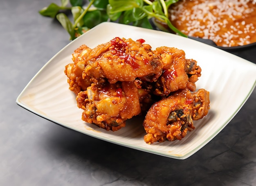
<instances>
[{"instance_id":1,"label":"smooth orange part of back-right chicken piece, without its dark knobbly end","mask_svg":"<svg viewBox=\"0 0 256 186\"><path fill-rule=\"evenodd\" d=\"M189 77L185 71L185 52L174 47L157 47L153 52L164 65L163 73L155 84L155 94L164 97L186 88Z\"/></svg>"}]
</instances>

